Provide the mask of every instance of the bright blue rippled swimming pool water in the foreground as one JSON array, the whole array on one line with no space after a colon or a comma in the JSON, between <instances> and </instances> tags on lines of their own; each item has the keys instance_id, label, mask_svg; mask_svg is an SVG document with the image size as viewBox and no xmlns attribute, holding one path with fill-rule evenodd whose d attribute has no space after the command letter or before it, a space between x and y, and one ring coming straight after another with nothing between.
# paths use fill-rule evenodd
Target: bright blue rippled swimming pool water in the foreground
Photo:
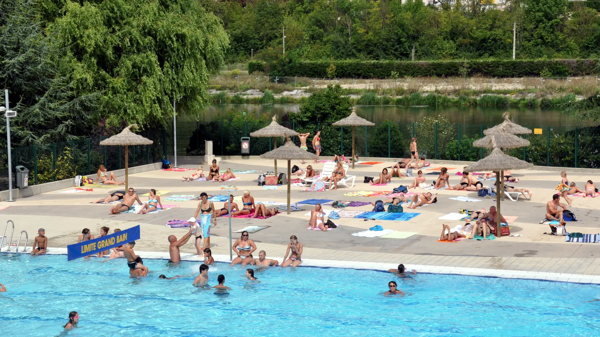
<instances>
[{"instance_id":1,"label":"bright blue rippled swimming pool water in the foreground","mask_svg":"<svg viewBox=\"0 0 600 337\"><path fill-rule=\"evenodd\" d=\"M398 279L373 270L271 268L262 281L217 263L229 294L194 288L199 263L144 260L147 278L128 278L124 259L67 262L65 255L0 254L3 336L56 336L70 311L70 336L600 336L597 285L456 275ZM190 275L171 281L164 273ZM384 297L388 281L406 297Z\"/></svg>"}]
</instances>

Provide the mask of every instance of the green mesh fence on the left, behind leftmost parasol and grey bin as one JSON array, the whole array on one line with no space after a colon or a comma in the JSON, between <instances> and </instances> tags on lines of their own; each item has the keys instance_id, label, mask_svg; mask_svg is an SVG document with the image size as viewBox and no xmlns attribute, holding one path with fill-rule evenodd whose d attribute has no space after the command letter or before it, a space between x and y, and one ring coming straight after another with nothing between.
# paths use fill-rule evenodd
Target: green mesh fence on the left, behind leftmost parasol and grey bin
<instances>
[{"instance_id":1,"label":"green mesh fence on the left, behind leftmost parasol and grey bin","mask_svg":"<svg viewBox=\"0 0 600 337\"><path fill-rule=\"evenodd\" d=\"M129 167L156 163L164 158L166 131L142 133L154 141L152 145L128 146ZM101 146L103 138L72 140L71 142L11 148L12 179L15 185L15 167L29 169L29 185L88 175L95 180L98 166L108 170L125 168L125 146ZM0 150L0 190L8 189L8 155Z\"/></svg>"}]
</instances>

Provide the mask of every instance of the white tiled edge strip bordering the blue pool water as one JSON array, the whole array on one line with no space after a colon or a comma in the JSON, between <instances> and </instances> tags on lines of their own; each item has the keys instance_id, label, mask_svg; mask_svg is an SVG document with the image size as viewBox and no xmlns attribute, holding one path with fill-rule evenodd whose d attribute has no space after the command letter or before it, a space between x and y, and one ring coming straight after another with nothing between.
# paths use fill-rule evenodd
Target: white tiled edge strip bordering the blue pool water
<instances>
[{"instance_id":1,"label":"white tiled edge strip bordering the blue pool water","mask_svg":"<svg viewBox=\"0 0 600 337\"><path fill-rule=\"evenodd\" d=\"M0 251L2 254L17 254L16 252L7 252L6 247ZM169 260L170 256L167 252L154 251L138 251L138 254L144 258L152 258L157 260ZM29 252L21 252L19 254L30 254ZM47 252L49 255L66 255L67 248L52 248L52 251ZM185 253L181 254L181 261L202 262L203 258L199 258L196 254ZM214 254L212 257L215 262L230 263L229 255ZM360 261L339 261L339 260L302 260L301 267L318 267L318 268L346 268L356 270L374 270L387 272L389 269L395 269L397 264L380 263L380 262L360 262ZM568 273L551 273L551 272L532 272L525 270L506 270L506 269L484 269L470 267L451 267L451 266L429 266L425 264L406 264L407 270L416 269L418 273L431 273L442 275L462 275L462 276L479 276L489 278L517 278L530 279L535 281L549 282L568 282L577 284L600 284L600 275L584 275L584 274L568 274Z\"/></svg>"}]
</instances>

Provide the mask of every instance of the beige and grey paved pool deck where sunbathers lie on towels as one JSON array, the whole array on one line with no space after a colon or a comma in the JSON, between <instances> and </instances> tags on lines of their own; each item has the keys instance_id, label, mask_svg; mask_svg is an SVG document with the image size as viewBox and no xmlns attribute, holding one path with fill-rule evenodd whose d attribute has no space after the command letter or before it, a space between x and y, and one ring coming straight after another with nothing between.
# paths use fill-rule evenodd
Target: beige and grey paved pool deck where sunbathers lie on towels
<instances>
[{"instance_id":1,"label":"beige and grey paved pool deck where sunbathers lie on towels","mask_svg":"<svg viewBox=\"0 0 600 337\"><path fill-rule=\"evenodd\" d=\"M300 167L300 162L292 163ZM357 165L356 169L350 169L349 174L356 174L357 179L353 188L338 188L337 191L306 192L301 187L292 186L292 203L310 198L323 198L331 200L347 201L369 201L374 202L374 197L347 197L344 193L349 191L391 191L400 184L409 185L413 178L394 179L387 186L371 186L362 183L362 177L376 176L385 166L392 163L376 164L373 166ZM284 161L278 162L279 169L283 169ZM182 167L194 167L194 164L181 164ZM323 164L314 164L316 169L322 168ZM432 167L440 166L432 163ZM462 169L460 165L446 165L456 167L450 170L450 182L455 185L460 177L454 173ZM227 160L220 163L221 169L230 167L232 169L267 171L272 170L272 161L268 160ZM206 169L206 166L205 166ZM416 170L413 170L416 175ZM427 171L424 171L427 172ZM266 190L257 186L258 173L236 174L241 179L232 182L182 182L181 176L189 172L176 171L146 171L131 174L130 186L136 189L142 201L147 197L141 194L155 188L158 191L170 191L161 197L164 199L171 194L194 194L200 192L208 194L226 194L221 191L220 185L236 185L238 190L234 195L242 195L244 189L249 189L256 201L286 201L286 186L279 186L275 190ZM470 268L485 269L488 273L497 274L501 270L508 270L514 275L518 273L557 273L567 279L558 279L559 276L552 275L559 281L582 282L594 281L600 275L600 259L596 257L600 253L598 243L569 243L565 237L556 237L543 234L550 231L548 225L539 224L544 218L545 203L551 200L551 195L556 192L554 187L560 181L557 171L521 170L513 171L512 175L519 177L519 183L508 183L508 185L527 188L533 191L532 200L519 199L511 201L506 199L502 202L502 214L518 216L511 224L511 233L523 234L522 237L502 237L497 240L462 240L458 243L448 244L437 242L439 239L441 224L448 224L451 228L461 221L439 220L442 215L458 212L458 209L479 209L495 206L494 199L485 198L479 202L465 202L451 200L449 197L465 195L473 197L475 192L463 191L437 191L438 203L427 207L406 212L419 212L410 221L381 221L354 218L340 218L335 220L338 228L331 231L306 231L308 216L304 216L314 206L303 205L305 211L292 212L290 215L281 214L269 219L232 219L232 230L239 230L247 225L271 226L251 233L250 238L256 242L258 250L265 250L269 257L280 260L286 252L289 236L295 234L300 242L304 244L302 257L308 260L338 261L344 266L364 268L363 263L391 263L397 266L404 263L406 266L428 266L448 267L454 270L465 270ZM434 175L425 175L427 182L436 178ZM577 186L583 187L588 179L599 180L599 173L570 173L568 178L576 182ZM122 180L122 177L119 177ZM493 183L493 182L491 182ZM484 186L489 183L484 182ZM72 188L68 188L72 189ZM92 200L98 200L109 192L124 189L124 186L112 188L95 188L94 191L84 191L76 194L61 194L58 191L47 192L22 198L12 203L1 202L0 206L10 206L0 210L0 223L13 220L15 223L15 235L13 243L21 230L29 234L29 245L37 233L38 228L46 229L49 247L65 248L66 245L77 241L77 236L83 228L89 228L92 234L97 235L100 227L106 225L112 232L115 228L128 228L140 225L142 239L138 241L136 248L140 251L167 252L167 236L175 234L181 237L187 230L185 228L170 228L165 224L171 219L188 219L194 215L198 201L163 201L163 204L176 204L178 207L154 214L138 215L136 213L125 213L109 215L109 205L91 204ZM422 192L422 189L415 189ZM435 191L432 191L435 192ZM598 218L600 210L598 203L600 198L572 197L573 207L569 207L577 216L577 222L568 222L569 232L581 232L584 234L599 233ZM563 202L563 201L562 201ZM215 207L222 207L223 203L215 202ZM238 202L239 204L239 202ZM299 205L300 206L300 205ZM325 207L331 209L331 207ZM371 206L350 207L350 210L371 210ZM212 251L215 255L229 255L229 218L218 218L217 227L211 228ZM386 229L397 231L408 231L416 233L406 239L388 239L382 237L356 237L352 233L366 230L379 224ZM10 232L10 228L8 229ZM10 233L7 233L10 237ZM239 237L239 233L233 233L233 240ZM29 248L31 249L31 248ZM192 242L188 242L181 248L182 254L193 253L196 249ZM257 254L256 254L257 255ZM345 262L345 264L344 264ZM355 263L357 262L357 263ZM497 272L494 272L496 270ZM425 270L424 270L425 271ZM485 275L485 273L480 273ZM530 274L533 275L533 274ZM545 274L539 274L545 275ZM496 275L497 276L497 275ZM529 276L527 277L529 278ZM539 277L538 277L539 278Z\"/></svg>"}]
</instances>

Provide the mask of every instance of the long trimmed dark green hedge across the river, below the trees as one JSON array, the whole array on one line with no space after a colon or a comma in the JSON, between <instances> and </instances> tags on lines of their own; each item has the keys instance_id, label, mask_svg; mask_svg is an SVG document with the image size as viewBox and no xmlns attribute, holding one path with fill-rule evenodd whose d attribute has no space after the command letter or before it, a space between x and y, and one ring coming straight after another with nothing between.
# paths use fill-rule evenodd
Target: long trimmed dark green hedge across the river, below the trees
<instances>
[{"instance_id":1,"label":"long trimmed dark green hedge across the river, below the trees","mask_svg":"<svg viewBox=\"0 0 600 337\"><path fill-rule=\"evenodd\" d=\"M331 61L302 61L290 64L285 74L278 76L327 77ZM526 77L539 76L546 70L551 77L592 75L598 64L596 59L556 59L556 60L508 60L508 61L335 61L338 78L385 79L396 71L398 76L486 76L486 77ZM260 61L248 64L248 73L265 71L267 64Z\"/></svg>"}]
</instances>

